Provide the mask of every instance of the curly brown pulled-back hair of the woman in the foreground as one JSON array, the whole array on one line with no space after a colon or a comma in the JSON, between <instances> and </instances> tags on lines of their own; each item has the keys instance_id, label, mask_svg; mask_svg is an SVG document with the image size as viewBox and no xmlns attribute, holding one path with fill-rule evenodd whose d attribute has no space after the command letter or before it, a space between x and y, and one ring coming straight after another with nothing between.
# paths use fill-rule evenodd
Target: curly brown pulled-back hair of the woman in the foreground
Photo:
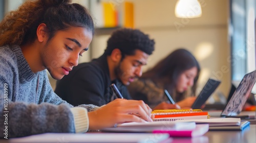
<instances>
[{"instance_id":1,"label":"curly brown pulled-back hair of the woman in the foreground","mask_svg":"<svg viewBox=\"0 0 256 143\"><path fill-rule=\"evenodd\" d=\"M84 27L94 33L88 10L70 0L26 1L10 12L0 23L0 46L23 45L33 42L40 23L46 23L50 40L59 30L71 26Z\"/></svg>"}]
</instances>

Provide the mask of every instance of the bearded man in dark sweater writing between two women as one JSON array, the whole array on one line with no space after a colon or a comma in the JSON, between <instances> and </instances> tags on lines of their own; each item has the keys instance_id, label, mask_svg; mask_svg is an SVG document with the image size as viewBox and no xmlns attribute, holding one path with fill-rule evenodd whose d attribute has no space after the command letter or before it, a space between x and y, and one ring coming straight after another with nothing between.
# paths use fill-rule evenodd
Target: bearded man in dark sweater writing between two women
<instances>
[{"instance_id":1,"label":"bearded man in dark sweater writing between two women","mask_svg":"<svg viewBox=\"0 0 256 143\"><path fill-rule=\"evenodd\" d=\"M108 39L103 55L74 67L68 76L57 81L55 92L73 105L101 106L116 98L110 88L115 83L123 98L129 100L126 86L142 75L143 65L154 49L155 41L142 31L118 29Z\"/></svg>"}]
</instances>

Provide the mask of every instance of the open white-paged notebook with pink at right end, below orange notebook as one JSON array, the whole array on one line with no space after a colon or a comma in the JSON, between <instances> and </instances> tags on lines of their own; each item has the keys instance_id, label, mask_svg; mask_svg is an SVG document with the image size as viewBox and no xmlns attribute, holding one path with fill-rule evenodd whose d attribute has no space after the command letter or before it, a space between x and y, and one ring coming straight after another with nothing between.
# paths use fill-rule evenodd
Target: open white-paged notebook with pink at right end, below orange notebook
<instances>
[{"instance_id":1,"label":"open white-paged notebook with pink at right end, below orange notebook","mask_svg":"<svg viewBox=\"0 0 256 143\"><path fill-rule=\"evenodd\" d=\"M172 127L174 126L174 127ZM176 126L176 127L175 127ZM168 133L172 137L196 137L202 136L209 130L208 124L195 122L148 122L148 123L124 123L116 128L105 128L102 132L147 132L147 133Z\"/></svg>"}]
</instances>

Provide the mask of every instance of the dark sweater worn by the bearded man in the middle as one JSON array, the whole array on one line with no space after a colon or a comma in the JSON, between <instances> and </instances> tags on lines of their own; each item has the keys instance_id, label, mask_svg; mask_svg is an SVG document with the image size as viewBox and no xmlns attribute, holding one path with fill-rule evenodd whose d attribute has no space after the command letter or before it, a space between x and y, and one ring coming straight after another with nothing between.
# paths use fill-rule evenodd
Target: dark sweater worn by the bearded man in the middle
<instances>
[{"instance_id":1,"label":"dark sweater worn by the bearded man in the middle","mask_svg":"<svg viewBox=\"0 0 256 143\"><path fill-rule=\"evenodd\" d=\"M76 106L94 104L102 106L114 100L111 83L115 83L125 99L131 99L125 85L110 80L106 55L74 67L68 76L57 81L55 93L63 100ZM72 95L72 96L71 96Z\"/></svg>"}]
</instances>

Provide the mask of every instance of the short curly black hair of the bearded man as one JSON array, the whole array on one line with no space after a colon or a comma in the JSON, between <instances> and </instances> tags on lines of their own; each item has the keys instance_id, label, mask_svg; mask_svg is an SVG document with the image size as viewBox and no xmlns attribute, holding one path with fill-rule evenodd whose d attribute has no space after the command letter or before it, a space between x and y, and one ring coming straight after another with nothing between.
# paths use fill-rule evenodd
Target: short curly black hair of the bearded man
<instances>
[{"instance_id":1,"label":"short curly black hair of the bearded man","mask_svg":"<svg viewBox=\"0 0 256 143\"><path fill-rule=\"evenodd\" d=\"M122 58L125 55L134 55L135 50L151 55L155 50L155 41L140 30L122 28L112 33L104 53L111 55L114 49L122 52Z\"/></svg>"}]
</instances>

